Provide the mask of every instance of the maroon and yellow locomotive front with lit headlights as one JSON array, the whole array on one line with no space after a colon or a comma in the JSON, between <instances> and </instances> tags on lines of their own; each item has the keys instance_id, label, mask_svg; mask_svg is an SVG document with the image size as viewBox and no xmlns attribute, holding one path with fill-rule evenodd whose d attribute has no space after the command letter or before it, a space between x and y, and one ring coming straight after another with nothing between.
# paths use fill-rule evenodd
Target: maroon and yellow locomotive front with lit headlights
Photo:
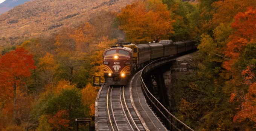
<instances>
[{"instance_id":1,"label":"maroon and yellow locomotive front with lit headlights","mask_svg":"<svg viewBox=\"0 0 256 131\"><path fill-rule=\"evenodd\" d=\"M108 85L126 85L133 65L133 50L113 47L104 52L104 77Z\"/></svg>"}]
</instances>

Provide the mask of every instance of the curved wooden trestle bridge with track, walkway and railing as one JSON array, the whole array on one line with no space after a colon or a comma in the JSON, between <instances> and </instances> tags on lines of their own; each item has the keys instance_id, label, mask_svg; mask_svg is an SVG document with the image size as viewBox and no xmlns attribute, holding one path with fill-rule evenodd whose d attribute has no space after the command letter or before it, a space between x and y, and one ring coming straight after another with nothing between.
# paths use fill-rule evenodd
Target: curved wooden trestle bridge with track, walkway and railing
<instances>
[{"instance_id":1,"label":"curved wooden trestle bridge with track, walkway and railing","mask_svg":"<svg viewBox=\"0 0 256 131\"><path fill-rule=\"evenodd\" d=\"M168 110L162 72L174 61L175 57L153 61L126 86L104 83L95 102L96 131L194 131Z\"/></svg>"}]
</instances>

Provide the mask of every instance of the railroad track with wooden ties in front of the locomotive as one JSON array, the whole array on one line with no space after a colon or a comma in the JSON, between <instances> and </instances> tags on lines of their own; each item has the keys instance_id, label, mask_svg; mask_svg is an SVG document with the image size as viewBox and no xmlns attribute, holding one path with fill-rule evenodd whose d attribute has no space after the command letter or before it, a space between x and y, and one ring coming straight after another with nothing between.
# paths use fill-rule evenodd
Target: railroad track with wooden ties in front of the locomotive
<instances>
[{"instance_id":1,"label":"railroad track with wooden ties in front of the locomotive","mask_svg":"<svg viewBox=\"0 0 256 131\"><path fill-rule=\"evenodd\" d=\"M131 105L128 87L104 85L98 101L99 131L145 131Z\"/></svg>"}]
</instances>

